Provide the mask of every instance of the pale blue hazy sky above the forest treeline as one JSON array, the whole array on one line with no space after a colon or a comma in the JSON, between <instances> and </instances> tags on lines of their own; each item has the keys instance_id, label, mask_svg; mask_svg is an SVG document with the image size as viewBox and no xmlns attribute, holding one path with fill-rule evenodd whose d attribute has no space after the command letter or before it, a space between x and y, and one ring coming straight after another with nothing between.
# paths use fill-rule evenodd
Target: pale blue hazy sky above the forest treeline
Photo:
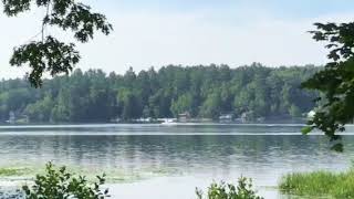
<instances>
[{"instance_id":1,"label":"pale blue hazy sky above the forest treeline","mask_svg":"<svg viewBox=\"0 0 354 199\"><path fill-rule=\"evenodd\" d=\"M77 67L123 74L168 64L252 62L268 66L324 64L326 50L308 32L314 22L354 19L353 0L84 0L107 15L114 32L79 44ZM0 8L2 9L2 7ZM44 10L17 18L0 14L0 78L21 77L28 67L11 67L17 45L35 40ZM72 34L50 33L64 41Z\"/></svg>"}]
</instances>

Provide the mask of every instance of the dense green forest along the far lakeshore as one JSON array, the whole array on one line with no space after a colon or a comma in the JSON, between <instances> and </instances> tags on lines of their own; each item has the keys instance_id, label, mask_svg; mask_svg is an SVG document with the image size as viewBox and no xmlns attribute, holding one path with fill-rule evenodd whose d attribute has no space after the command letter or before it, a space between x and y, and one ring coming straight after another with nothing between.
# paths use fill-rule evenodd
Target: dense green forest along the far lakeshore
<instances>
[{"instance_id":1,"label":"dense green forest along the far lakeshore","mask_svg":"<svg viewBox=\"0 0 354 199\"><path fill-rule=\"evenodd\" d=\"M266 67L254 63L150 67L124 75L75 70L70 76L45 80L41 88L23 78L0 82L0 121L27 116L32 123L110 122L140 117L299 117L314 106L315 93L300 90L321 67Z\"/></svg>"}]
</instances>

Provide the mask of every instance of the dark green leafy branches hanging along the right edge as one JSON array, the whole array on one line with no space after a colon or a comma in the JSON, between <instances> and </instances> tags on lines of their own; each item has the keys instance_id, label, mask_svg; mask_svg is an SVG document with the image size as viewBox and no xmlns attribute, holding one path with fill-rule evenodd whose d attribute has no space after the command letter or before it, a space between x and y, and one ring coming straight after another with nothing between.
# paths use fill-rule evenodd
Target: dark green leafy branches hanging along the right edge
<instances>
[{"instance_id":1,"label":"dark green leafy branches hanging along the right edge","mask_svg":"<svg viewBox=\"0 0 354 199\"><path fill-rule=\"evenodd\" d=\"M331 61L323 71L302 84L323 94L317 98L321 104L309 125L323 130L331 140L339 140L341 137L336 132L343 132L344 125L354 118L354 23L315 25L317 30L311 32L313 39L326 42ZM309 128L304 130L309 132ZM335 144L333 149L342 150L342 144Z\"/></svg>"}]
</instances>

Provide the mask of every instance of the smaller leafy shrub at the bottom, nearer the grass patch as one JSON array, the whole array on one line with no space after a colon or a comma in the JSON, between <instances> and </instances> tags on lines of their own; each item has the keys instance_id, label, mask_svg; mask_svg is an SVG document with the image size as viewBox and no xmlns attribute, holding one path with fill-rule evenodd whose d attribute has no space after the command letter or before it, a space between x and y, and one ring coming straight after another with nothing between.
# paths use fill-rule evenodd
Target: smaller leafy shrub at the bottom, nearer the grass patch
<instances>
[{"instance_id":1,"label":"smaller leafy shrub at the bottom, nearer the grass patch","mask_svg":"<svg viewBox=\"0 0 354 199\"><path fill-rule=\"evenodd\" d=\"M198 199L262 199L256 195L252 190L252 180L241 177L238 181L238 186L235 187L231 184L211 184L208 188L208 193L205 197L204 192L197 188L196 190Z\"/></svg>"}]
</instances>

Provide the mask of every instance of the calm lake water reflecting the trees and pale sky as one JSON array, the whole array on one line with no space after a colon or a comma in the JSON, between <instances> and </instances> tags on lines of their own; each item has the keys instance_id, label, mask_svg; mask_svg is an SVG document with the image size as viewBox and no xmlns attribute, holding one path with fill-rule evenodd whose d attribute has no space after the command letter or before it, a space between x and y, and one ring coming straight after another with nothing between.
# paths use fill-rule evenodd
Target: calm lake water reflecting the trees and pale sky
<instances>
[{"instance_id":1,"label":"calm lake water reflecting the trees and pale sky","mask_svg":"<svg viewBox=\"0 0 354 199\"><path fill-rule=\"evenodd\" d=\"M275 186L292 171L345 170L354 157L354 127L345 151L326 137L302 136L302 125L60 125L0 126L0 166L55 164L158 172L110 185L112 198L192 199L212 180L253 179L258 192L281 199ZM110 174L107 174L110 176Z\"/></svg>"}]
</instances>

